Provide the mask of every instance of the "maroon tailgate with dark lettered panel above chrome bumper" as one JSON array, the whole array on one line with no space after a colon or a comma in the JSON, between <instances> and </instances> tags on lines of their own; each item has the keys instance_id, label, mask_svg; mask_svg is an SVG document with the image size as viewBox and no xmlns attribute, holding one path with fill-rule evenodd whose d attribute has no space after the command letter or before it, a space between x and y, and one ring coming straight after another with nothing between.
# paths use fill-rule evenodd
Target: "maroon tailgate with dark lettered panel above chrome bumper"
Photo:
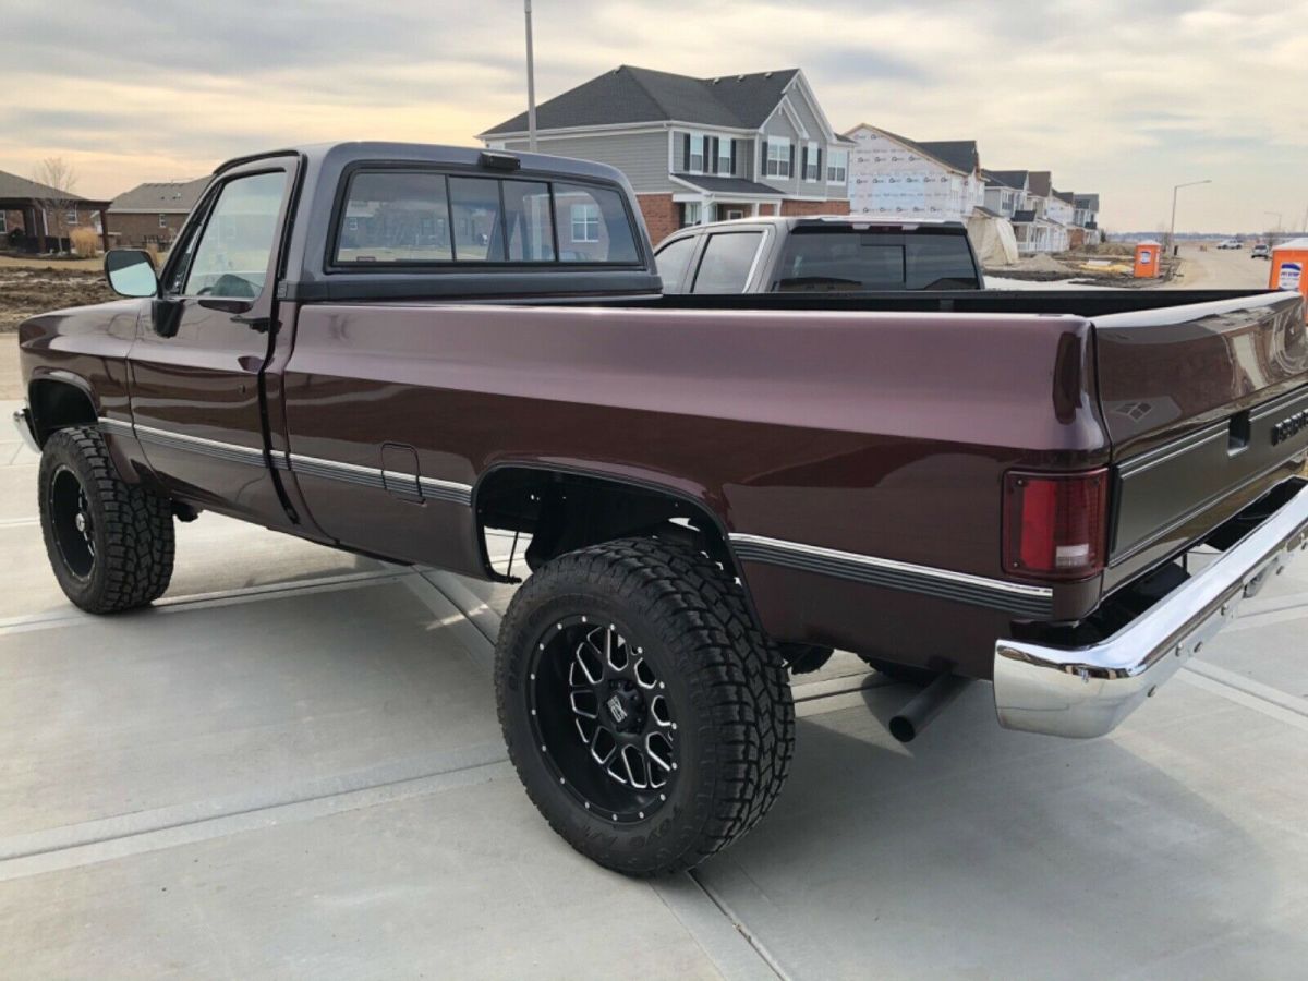
<instances>
[{"instance_id":1,"label":"maroon tailgate with dark lettered panel above chrome bumper","mask_svg":"<svg viewBox=\"0 0 1308 981\"><path fill-rule=\"evenodd\" d=\"M1304 301L1267 293L1095 322L1117 467L1112 589L1296 470L1308 449Z\"/></svg>"}]
</instances>

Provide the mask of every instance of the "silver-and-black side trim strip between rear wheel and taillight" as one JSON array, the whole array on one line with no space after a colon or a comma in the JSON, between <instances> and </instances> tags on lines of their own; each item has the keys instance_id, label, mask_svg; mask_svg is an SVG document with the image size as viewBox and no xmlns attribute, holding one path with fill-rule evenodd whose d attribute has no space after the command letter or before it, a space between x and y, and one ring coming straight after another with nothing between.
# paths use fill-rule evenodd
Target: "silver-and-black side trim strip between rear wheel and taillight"
<instances>
[{"instance_id":1,"label":"silver-and-black side trim strip between rear wheel and taillight","mask_svg":"<svg viewBox=\"0 0 1308 981\"><path fill-rule=\"evenodd\" d=\"M734 534L729 538L736 557L746 562L781 565L869 586L921 593L990 610L1008 610L1036 619L1053 616L1054 591L1048 586L988 579L929 565L840 552L759 535Z\"/></svg>"}]
</instances>

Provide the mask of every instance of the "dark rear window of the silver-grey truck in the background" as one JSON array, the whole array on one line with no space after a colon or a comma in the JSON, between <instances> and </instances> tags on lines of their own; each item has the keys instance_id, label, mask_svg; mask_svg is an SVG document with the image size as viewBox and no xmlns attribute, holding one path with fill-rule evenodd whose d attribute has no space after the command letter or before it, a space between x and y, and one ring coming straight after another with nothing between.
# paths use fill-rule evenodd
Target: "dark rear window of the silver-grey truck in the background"
<instances>
[{"instance_id":1,"label":"dark rear window of the silver-grey truck in the background","mask_svg":"<svg viewBox=\"0 0 1308 981\"><path fill-rule=\"evenodd\" d=\"M795 229L777 266L774 293L980 289L968 239L900 229Z\"/></svg>"}]
</instances>

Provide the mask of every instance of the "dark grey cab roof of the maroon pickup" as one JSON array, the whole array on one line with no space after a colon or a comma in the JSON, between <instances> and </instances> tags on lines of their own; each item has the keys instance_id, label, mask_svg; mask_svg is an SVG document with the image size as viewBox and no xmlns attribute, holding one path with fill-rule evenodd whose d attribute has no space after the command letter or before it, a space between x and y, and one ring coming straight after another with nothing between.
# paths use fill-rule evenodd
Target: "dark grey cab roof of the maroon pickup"
<instances>
[{"instance_id":1,"label":"dark grey cab roof of the maroon pickup","mask_svg":"<svg viewBox=\"0 0 1308 981\"><path fill-rule=\"evenodd\" d=\"M215 174L222 174L237 166L252 164L273 157L297 156L305 160L313 170L331 164L335 167L349 166L351 164L433 164L437 166L480 166L483 154L494 157L514 157L521 164L521 170L534 173L551 173L574 177L595 178L600 181L613 181L620 184L627 183L627 178L617 167L607 164L596 164L589 160L576 160L573 157L553 157L547 153L517 153L511 150L487 150L481 146L451 146L438 143L390 143L382 140L361 140L343 143L314 143L301 146L285 146L264 153L252 153L245 157L234 157L215 169ZM317 165L317 166L314 166ZM509 177L515 171L487 167L488 173Z\"/></svg>"}]
</instances>

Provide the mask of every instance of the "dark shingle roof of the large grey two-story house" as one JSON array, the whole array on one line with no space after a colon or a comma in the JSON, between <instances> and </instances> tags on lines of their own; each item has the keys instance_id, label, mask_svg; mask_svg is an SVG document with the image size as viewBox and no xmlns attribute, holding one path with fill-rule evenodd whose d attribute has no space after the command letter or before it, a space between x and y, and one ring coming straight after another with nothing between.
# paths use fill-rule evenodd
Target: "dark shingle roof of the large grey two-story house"
<instances>
[{"instance_id":1,"label":"dark shingle roof of the large grey two-story house","mask_svg":"<svg viewBox=\"0 0 1308 981\"><path fill-rule=\"evenodd\" d=\"M536 129L670 120L757 129L798 73L798 68L786 68L692 78L624 64L542 102L536 106ZM527 114L519 112L480 136L526 129Z\"/></svg>"}]
</instances>

